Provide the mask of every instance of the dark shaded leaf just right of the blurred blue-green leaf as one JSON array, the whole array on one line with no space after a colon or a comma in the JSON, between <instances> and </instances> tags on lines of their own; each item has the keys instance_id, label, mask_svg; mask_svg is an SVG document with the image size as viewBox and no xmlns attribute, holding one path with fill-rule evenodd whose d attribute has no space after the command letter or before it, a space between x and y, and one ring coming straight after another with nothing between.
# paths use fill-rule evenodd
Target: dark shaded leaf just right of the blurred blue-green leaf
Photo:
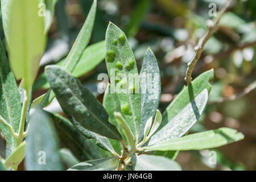
<instances>
[{"instance_id":1,"label":"dark shaded leaf just right of the blurred blue-green leaf","mask_svg":"<svg viewBox=\"0 0 256 182\"><path fill-rule=\"evenodd\" d=\"M48 113L59 135L61 147L68 148L80 161L101 158L95 143L84 137L67 119Z\"/></svg>"}]
</instances>

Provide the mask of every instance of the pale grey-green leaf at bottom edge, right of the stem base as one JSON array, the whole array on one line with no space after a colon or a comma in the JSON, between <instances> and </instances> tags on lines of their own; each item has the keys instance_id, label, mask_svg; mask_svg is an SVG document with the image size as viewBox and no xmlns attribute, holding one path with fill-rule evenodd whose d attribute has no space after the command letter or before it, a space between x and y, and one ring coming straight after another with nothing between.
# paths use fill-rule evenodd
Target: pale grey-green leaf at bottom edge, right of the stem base
<instances>
[{"instance_id":1,"label":"pale grey-green leaf at bottom edge, right of the stem base","mask_svg":"<svg viewBox=\"0 0 256 182\"><path fill-rule=\"evenodd\" d=\"M135 163L135 164L134 164ZM180 171L181 167L174 160L164 156L139 155L133 160L135 171Z\"/></svg>"}]
</instances>

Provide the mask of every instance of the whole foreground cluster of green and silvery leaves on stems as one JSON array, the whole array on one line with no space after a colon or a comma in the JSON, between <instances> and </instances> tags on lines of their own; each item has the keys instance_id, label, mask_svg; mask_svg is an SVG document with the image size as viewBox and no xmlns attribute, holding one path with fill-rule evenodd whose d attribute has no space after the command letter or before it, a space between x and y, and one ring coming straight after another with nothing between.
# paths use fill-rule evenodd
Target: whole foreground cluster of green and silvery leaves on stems
<instances>
[{"instance_id":1,"label":"whole foreground cluster of green and silvery leaves on stems","mask_svg":"<svg viewBox=\"0 0 256 182\"><path fill-rule=\"evenodd\" d=\"M229 128L187 135L207 104L213 70L185 86L163 115L158 110L159 89L135 93L132 87L131 93L105 92L102 105L76 77L89 72L104 58L115 86L127 83L112 78L111 69L137 78L160 73L158 61L149 48L138 73L126 35L113 23L109 23L105 43L87 47L96 16L96 0L68 56L61 63L48 65L40 77L41 83L51 88L31 101L55 4L46 0L49 15L40 17L37 14L41 1L32 2L1 1L11 69L0 43L0 128L7 142L6 158L0 158L0 169L17 169L26 155L27 170L180 170L174 160L179 151L219 147L243 138ZM36 18L31 20L31 16ZM104 56L98 52L91 59L86 57L99 47L105 47ZM22 79L19 87L14 76ZM160 78L156 81L160 88ZM109 89L110 85L106 90ZM55 97L68 119L42 110ZM167 151L168 155L161 156L159 151Z\"/></svg>"}]
</instances>

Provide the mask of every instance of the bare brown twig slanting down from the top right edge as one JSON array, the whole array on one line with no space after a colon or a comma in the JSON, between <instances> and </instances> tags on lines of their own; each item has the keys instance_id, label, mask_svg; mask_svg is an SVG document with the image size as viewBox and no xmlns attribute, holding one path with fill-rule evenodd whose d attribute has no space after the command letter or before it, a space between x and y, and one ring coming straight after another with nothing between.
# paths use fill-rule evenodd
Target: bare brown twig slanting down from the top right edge
<instances>
[{"instance_id":1,"label":"bare brown twig slanting down from the top right edge","mask_svg":"<svg viewBox=\"0 0 256 182\"><path fill-rule=\"evenodd\" d=\"M186 77L185 77L185 81L187 82L188 85L191 83L191 80L192 80L191 75L192 75L193 68L195 67L197 61L199 60L204 50L204 45L209 40L210 36L212 36L218 30L218 22L220 21L221 16L225 13L226 9L228 9L232 1L233 0L229 0L223 7L221 7L220 13L218 13L218 16L215 19L207 20L207 27L208 27L207 31L199 39L199 42L194 48L195 54L193 55L192 60L188 63L188 68L187 68Z\"/></svg>"}]
</instances>

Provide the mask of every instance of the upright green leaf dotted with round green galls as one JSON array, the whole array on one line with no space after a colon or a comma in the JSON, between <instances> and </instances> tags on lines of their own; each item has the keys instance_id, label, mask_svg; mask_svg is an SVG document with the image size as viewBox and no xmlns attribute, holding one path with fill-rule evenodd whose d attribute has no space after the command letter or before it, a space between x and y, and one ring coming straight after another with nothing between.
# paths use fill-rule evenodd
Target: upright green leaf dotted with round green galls
<instances>
[{"instance_id":1,"label":"upright green leaf dotted with round green galls","mask_svg":"<svg viewBox=\"0 0 256 182\"><path fill-rule=\"evenodd\" d=\"M114 40L118 40L118 46L113 44ZM139 79L137 65L135 64L135 57L127 41L127 38L123 31L111 22L109 23L108 29L106 31L105 49L106 55L109 51L113 51L115 55L113 63L110 63L108 60L106 60L110 81L116 80L116 77L111 74L112 69L122 74L122 81L126 81L125 78L129 78L130 74L132 74L135 79ZM132 60L134 64L129 64L130 60ZM125 69L118 69L116 67L118 62L122 63L123 68ZM126 65L129 65L129 70L126 69ZM131 65L133 66L131 67ZM129 108L129 111L127 109L122 109L122 111L124 111L122 114L123 117L125 117L131 131L133 131L135 138L138 139L141 123L141 93L130 93L130 88L128 87L127 81L126 83L121 81L118 83L115 82L115 88L118 89L118 91L116 90L117 92L115 95L117 96L120 105L129 106L127 107ZM121 90L119 90L120 88Z\"/></svg>"}]
</instances>

